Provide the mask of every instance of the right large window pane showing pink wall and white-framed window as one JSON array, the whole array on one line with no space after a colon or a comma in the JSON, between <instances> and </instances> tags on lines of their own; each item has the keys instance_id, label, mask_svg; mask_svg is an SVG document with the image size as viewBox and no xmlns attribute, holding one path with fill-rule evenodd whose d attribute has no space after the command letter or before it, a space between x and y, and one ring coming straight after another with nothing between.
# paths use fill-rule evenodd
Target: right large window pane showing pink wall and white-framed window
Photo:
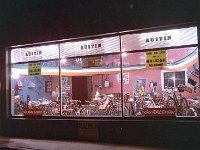
<instances>
[{"instance_id":1,"label":"right large window pane showing pink wall and white-framed window","mask_svg":"<svg viewBox=\"0 0 200 150\"><path fill-rule=\"evenodd\" d=\"M146 52L122 55L129 76L123 82L124 116L200 116L198 49L166 51L167 65L159 67L145 65Z\"/></svg>"}]
</instances>

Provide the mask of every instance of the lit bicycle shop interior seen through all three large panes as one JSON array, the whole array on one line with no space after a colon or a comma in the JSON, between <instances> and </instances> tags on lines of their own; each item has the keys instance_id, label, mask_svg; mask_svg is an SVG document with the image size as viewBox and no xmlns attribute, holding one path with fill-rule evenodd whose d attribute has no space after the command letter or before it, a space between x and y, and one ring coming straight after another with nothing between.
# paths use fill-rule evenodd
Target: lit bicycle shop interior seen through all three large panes
<instances>
[{"instance_id":1,"label":"lit bicycle shop interior seen through all three large panes","mask_svg":"<svg viewBox=\"0 0 200 150\"><path fill-rule=\"evenodd\" d=\"M121 55L42 61L32 76L28 63L13 64L11 115L144 117L145 108L174 108L177 117L200 116L197 47L167 49L167 65L148 68L146 52Z\"/></svg>"}]
</instances>

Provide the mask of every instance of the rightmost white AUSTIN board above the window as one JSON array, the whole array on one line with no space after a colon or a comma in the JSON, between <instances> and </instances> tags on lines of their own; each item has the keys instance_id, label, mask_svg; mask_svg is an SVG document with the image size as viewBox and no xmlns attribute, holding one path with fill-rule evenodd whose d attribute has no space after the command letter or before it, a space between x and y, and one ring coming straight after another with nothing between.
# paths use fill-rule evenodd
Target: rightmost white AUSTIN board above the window
<instances>
[{"instance_id":1,"label":"rightmost white AUSTIN board above the window","mask_svg":"<svg viewBox=\"0 0 200 150\"><path fill-rule=\"evenodd\" d=\"M122 51L197 44L197 27L122 35Z\"/></svg>"}]
</instances>

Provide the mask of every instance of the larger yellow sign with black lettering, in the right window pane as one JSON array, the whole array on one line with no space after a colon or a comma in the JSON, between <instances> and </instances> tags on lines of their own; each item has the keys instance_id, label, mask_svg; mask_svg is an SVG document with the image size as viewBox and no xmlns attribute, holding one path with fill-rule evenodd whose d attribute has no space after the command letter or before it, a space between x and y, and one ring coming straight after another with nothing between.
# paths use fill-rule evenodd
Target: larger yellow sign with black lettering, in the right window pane
<instances>
[{"instance_id":1,"label":"larger yellow sign with black lettering, in the right window pane","mask_svg":"<svg viewBox=\"0 0 200 150\"><path fill-rule=\"evenodd\" d=\"M146 52L146 68L167 65L166 50Z\"/></svg>"}]
</instances>

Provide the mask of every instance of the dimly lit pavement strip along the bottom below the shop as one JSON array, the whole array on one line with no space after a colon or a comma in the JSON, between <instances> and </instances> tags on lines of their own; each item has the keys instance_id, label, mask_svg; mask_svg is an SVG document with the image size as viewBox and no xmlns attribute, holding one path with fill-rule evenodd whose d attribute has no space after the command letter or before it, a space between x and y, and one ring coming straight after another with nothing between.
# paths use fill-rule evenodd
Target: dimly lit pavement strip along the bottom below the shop
<instances>
[{"instance_id":1,"label":"dimly lit pavement strip along the bottom below the shop","mask_svg":"<svg viewBox=\"0 0 200 150\"><path fill-rule=\"evenodd\" d=\"M85 141L13 138L0 136L0 150L167 150L155 147Z\"/></svg>"}]
</instances>

